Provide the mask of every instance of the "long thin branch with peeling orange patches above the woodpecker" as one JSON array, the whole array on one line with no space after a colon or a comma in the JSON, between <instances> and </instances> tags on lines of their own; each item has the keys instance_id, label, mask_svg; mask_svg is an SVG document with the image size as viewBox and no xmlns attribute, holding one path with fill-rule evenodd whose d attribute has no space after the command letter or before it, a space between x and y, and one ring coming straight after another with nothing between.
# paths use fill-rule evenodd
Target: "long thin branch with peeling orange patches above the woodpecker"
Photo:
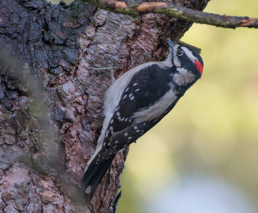
<instances>
[{"instance_id":1,"label":"long thin branch with peeling orange patches above the woodpecker","mask_svg":"<svg viewBox=\"0 0 258 213\"><path fill-rule=\"evenodd\" d=\"M258 18L227 16L202 11L192 10L165 2L140 2L140 1L116 1L116 0L84 0L103 10L110 12L139 16L146 13L160 13L181 20L199 24L214 25L217 27L233 28L249 27L258 28Z\"/></svg>"}]
</instances>

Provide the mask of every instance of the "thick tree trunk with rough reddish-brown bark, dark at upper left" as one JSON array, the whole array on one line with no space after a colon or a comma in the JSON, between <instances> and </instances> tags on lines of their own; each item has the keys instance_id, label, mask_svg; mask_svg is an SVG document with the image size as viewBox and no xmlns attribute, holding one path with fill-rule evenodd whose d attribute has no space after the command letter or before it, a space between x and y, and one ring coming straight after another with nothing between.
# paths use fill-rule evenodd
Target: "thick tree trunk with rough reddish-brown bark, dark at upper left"
<instances>
[{"instance_id":1,"label":"thick tree trunk with rough reddish-brown bark, dark at upper left","mask_svg":"<svg viewBox=\"0 0 258 213\"><path fill-rule=\"evenodd\" d=\"M208 1L173 1L203 10ZM165 15L130 17L75 1L0 1L0 212L114 212L128 149L117 154L91 202L79 192L115 77L166 55L191 23Z\"/></svg>"}]
</instances>

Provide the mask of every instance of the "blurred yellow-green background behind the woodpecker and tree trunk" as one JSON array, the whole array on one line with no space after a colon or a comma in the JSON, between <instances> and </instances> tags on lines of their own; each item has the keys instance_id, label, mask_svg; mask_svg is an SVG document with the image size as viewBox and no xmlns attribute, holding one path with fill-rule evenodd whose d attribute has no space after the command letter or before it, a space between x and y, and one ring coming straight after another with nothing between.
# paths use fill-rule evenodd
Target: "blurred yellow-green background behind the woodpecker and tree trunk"
<instances>
[{"instance_id":1,"label":"blurred yellow-green background behind the woodpecker and tree trunk","mask_svg":"<svg viewBox=\"0 0 258 213\"><path fill-rule=\"evenodd\" d=\"M257 10L214 0L204 11ZM203 76L130 146L117 212L258 212L258 29L193 24L181 40L201 48Z\"/></svg>"}]
</instances>

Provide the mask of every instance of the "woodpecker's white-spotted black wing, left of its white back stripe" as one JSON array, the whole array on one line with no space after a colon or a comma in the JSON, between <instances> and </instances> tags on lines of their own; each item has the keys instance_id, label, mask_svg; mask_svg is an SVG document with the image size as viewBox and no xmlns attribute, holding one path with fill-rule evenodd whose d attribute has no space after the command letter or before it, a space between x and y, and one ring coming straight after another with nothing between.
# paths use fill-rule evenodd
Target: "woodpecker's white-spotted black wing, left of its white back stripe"
<instances>
[{"instance_id":1,"label":"woodpecker's white-spotted black wing, left of its white back stripe","mask_svg":"<svg viewBox=\"0 0 258 213\"><path fill-rule=\"evenodd\" d=\"M153 105L171 89L170 74L174 70L173 67L164 70L157 64L153 64L141 69L133 76L111 119L98 163L134 142L156 124L152 122L149 127L143 122L135 123L132 116L134 112Z\"/></svg>"}]
</instances>

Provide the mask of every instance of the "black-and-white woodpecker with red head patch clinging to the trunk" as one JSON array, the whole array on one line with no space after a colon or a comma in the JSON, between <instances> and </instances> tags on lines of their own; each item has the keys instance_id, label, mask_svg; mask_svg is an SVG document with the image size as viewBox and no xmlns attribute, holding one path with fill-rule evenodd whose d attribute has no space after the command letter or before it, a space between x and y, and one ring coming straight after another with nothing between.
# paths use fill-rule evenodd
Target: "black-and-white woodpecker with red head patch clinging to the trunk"
<instances>
[{"instance_id":1,"label":"black-and-white woodpecker with red head patch clinging to the trunk","mask_svg":"<svg viewBox=\"0 0 258 213\"><path fill-rule=\"evenodd\" d=\"M101 135L81 182L90 198L116 153L154 127L203 73L203 60L195 50L167 41L165 61L134 67L106 91Z\"/></svg>"}]
</instances>

